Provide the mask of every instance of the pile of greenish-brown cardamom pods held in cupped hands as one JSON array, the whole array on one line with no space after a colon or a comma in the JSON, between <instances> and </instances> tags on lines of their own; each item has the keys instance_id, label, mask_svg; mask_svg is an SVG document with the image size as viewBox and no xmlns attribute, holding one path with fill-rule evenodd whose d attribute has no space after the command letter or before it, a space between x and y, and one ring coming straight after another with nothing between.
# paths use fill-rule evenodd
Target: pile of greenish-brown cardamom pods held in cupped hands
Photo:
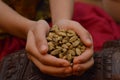
<instances>
[{"instance_id":1,"label":"pile of greenish-brown cardamom pods held in cupped hands","mask_svg":"<svg viewBox=\"0 0 120 80\"><path fill-rule=\"evenodd\" d=\"M86 46L73 30L59 29L54 25L47 34L48 53L72 63L75 56L81 55Z\"/></svg>"}]
</instances>

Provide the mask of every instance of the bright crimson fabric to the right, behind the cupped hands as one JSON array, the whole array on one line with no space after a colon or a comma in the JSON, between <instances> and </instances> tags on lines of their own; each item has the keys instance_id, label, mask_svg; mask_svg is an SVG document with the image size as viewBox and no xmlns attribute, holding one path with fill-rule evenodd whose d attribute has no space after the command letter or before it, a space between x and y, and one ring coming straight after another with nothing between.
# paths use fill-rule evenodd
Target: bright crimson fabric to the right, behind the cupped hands
<instances>
[{"instance_id":1,"label":"bright crimson fabric to the right, behind the cupped hands","mask_svg":"<svg viewBox=\"0 0 120 80\"><path fill-rule=\"evenodd\" d=\"M73 19L91 33L95 51L100 50L106 41L120 39L120 26L96 6L75 3Z\"/></svg>"}]
</instances>

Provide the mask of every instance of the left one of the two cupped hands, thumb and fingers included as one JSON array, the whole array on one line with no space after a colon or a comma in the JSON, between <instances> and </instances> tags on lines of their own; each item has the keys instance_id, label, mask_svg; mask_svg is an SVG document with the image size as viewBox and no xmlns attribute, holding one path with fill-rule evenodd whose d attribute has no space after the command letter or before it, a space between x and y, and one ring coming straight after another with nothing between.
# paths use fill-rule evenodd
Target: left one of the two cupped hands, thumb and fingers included
<instances>
[{"instance_id":1,"label":"left one of the two cupped hands, thumb and fingers included","mask_svg":"<svg viewBox=\"0 0 120 80\"><path fill-rule=\"evenodd\" d=\"M26 44L28 58L45 74L58 77L70 76L72 75L72 68L68 61L47 54L46 34L49 28L46 21L39 20L29 30Z\"/></svg>"}]
</instances>

